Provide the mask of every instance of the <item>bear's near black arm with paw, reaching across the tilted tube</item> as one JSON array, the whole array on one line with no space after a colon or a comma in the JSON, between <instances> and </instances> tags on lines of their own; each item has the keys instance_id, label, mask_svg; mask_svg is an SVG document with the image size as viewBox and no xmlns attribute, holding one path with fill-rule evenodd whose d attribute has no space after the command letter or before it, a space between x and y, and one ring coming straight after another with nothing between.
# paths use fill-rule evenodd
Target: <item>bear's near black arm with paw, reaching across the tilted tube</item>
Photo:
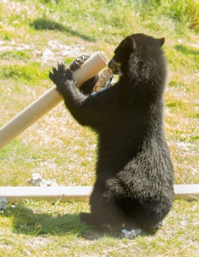
<instances>
[{"instance_id":1,"label":"bear's near black arm with paw, reaching across the tilted tube","mask_svg":"<svg viewBox=\"0 0 199 257\"><path fill-rule=\"evenodd\" d=\"M57 91L72 116L83 126L100 128L117 114L116 97L108 88L94 95L86 96L76 88L72 73L63 63L53 67L50 79L56 84Z\"/></svg>"}]
</instances>

